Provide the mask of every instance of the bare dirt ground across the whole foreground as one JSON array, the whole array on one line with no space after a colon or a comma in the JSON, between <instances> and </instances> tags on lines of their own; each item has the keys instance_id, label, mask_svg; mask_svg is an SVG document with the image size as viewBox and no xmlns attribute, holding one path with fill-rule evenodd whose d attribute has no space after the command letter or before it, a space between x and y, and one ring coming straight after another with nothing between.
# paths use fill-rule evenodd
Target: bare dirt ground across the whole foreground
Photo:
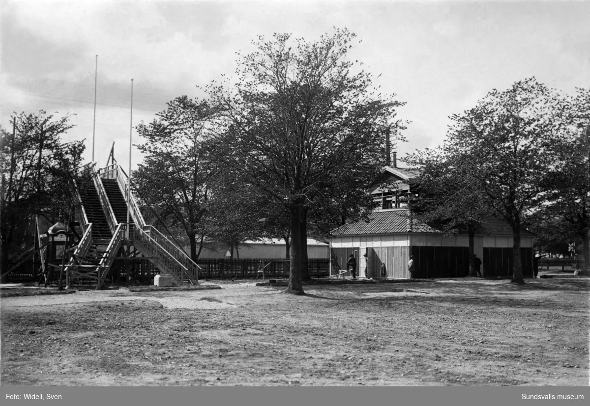
<instances>
[{"instance_id":1,"label":"bare dirt ground across the whole foreground","mask_svg":"<svg viewBox=\"0 0 590 406\"><path fill-rule=\"evenodd\" d=\"M2 298L1 384L589 384L588 278L211 283Z\"/></svg>"}]
</instances>

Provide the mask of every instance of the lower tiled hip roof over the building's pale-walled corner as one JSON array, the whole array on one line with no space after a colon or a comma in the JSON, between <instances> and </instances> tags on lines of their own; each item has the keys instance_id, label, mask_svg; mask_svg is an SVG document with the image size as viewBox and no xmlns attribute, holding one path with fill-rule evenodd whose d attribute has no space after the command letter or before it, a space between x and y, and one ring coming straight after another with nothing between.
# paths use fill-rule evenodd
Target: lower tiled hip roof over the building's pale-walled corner
<instances>
[{"instance_id":1,"label":"lower tiled hip roof over the building's pale-walled corner","mask_svg":"<svg viewBox=\"0 0 590 406\"><path fill-rule=\"evenodd\" d=\"M359 220L332 231L333 236L392 234L392 233L437 233L438 230L412 219L408 209L380 210L369 214L369 221Z\"/></svg>"}]
</instances>

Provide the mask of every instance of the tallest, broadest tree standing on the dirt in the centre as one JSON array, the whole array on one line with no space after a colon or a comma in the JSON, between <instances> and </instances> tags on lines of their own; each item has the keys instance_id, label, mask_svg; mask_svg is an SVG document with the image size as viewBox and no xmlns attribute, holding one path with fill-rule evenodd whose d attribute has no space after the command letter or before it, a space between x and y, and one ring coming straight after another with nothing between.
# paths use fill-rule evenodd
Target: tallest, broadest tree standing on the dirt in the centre
<instances>
[{"instance_id":1,"label":"tallest, broadest tree standing on the dirt in the centre","mask_svg":"<svg viewBox=\"0 0 590 406\"><path fill-rule=\"evenodd\" d=\"M396 125L401 103L375 94L371 75L347 59L354 38L336 29L291 47L287 34L259 37L258 51L240 55L234 84L207 88L221 109L215 139L224 148L213 154L289 213L287 293L303 293L311 209L321 215L315 208L330 204L334 190L368 189L384 163L382 134ZM349 201L351 210L361 204Z\"/></svg>"}]
</instances>

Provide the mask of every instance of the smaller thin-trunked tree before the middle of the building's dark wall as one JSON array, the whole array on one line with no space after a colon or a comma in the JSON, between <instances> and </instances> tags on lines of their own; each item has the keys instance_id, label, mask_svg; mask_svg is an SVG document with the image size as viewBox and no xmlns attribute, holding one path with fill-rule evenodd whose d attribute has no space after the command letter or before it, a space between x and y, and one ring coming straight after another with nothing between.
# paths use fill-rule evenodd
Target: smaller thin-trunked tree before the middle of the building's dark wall
<instances>
[{"instance_id":1,"label":"smaller thin-trunked tree before the middle of the building's dark wall","mask_svg":"<svg viewBox=\"0 0 590 406\"><path fill-rule=\"evenodd\" d=\"M405 161L420 170L412 181L417 197L409 201L412 215L427 223L438 223L445 235L466 233L469 238L469 275L476 276L474 239L491 216L487 199L477 189L470 172L470 157L445 144L409 155Z\"/></svg>"}]
</instances>

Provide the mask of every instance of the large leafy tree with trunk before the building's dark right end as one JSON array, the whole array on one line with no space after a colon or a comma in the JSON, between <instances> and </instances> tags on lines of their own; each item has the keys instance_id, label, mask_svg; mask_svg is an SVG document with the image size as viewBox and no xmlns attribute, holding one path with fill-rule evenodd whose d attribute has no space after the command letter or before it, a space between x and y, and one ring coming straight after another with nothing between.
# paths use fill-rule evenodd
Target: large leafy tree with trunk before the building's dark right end
<instances>
[{"instance_id":1,"label":"large leafy tree with trunk before the building's dark right end","mask_svg":"<svg viewBox=\"0 0 590 406\"><path fill-rule=\"evenodd\" d=\"M428 162L422 176L430 180L428 186L451 197L435 204L442 209L438 215L464 222L470 214L480 220L485 212L512 226L514 282L523 282L523 223L543 209L552 190L548 179L563 167L555 146L566 137L568 111L564 99L535 78L518 81L452 115L445 146L437 154L415 156L418 163ZM435 177L440 179L433 183Z\"/></svg>"}]
</instances>

